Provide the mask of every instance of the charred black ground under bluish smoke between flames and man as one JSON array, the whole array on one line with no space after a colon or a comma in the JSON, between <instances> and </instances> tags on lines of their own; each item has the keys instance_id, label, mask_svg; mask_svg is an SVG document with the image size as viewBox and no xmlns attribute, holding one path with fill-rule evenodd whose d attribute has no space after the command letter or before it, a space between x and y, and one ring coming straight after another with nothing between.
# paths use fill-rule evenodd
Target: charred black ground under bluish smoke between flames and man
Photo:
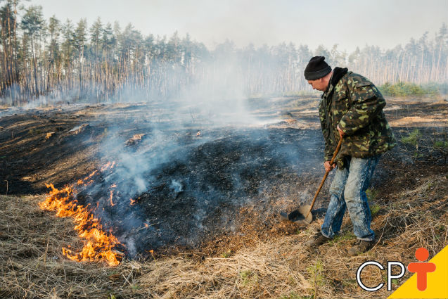
<instances>
[{"instance_id":1,"label":"charred black ground under bluish smoke between flames and man","mask_svg":"<svg viewBox=\"0 0 448 299\"><path fill-rule=\"evenodd\" d=\"M95 213L130 255L161 246L194 247L224 231L241 231L238 210L245 205L267 217L276 199L294 196L298 204L297 193L276 197L272 191L296 186L320 156L319 132L217 128L203 132L202 140L178 134L159 146L148 139L138 148L115 148L108 158L116 157L116 167L78 193L81 203L99 203Z\"/></svg>"}]
</instances>

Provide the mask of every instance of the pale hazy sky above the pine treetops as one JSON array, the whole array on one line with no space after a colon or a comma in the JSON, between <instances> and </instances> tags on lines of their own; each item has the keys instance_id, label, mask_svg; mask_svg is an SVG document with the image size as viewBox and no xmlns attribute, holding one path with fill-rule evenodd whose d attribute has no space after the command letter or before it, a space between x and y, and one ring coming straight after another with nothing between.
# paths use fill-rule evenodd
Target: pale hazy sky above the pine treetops
<instances>
[{"instance_id":1,"label":"pale hazy sky above the pine treetops","mask_svg":"<svg viewBox=\"0 0 448 299\"><path fill-rule=\"evenodd\" d=\"M353 51L356 46L383 49L405 44L428 31L432 38L448 23L448 0L32 0L48 19L87 18L89 26L99 16L103 23L128 23L142 34L192 39L213 48L231 39L239 47L281 42L323 44ZM29 5L29 4L27 4Z\"/></svg>"}]
</instances>

